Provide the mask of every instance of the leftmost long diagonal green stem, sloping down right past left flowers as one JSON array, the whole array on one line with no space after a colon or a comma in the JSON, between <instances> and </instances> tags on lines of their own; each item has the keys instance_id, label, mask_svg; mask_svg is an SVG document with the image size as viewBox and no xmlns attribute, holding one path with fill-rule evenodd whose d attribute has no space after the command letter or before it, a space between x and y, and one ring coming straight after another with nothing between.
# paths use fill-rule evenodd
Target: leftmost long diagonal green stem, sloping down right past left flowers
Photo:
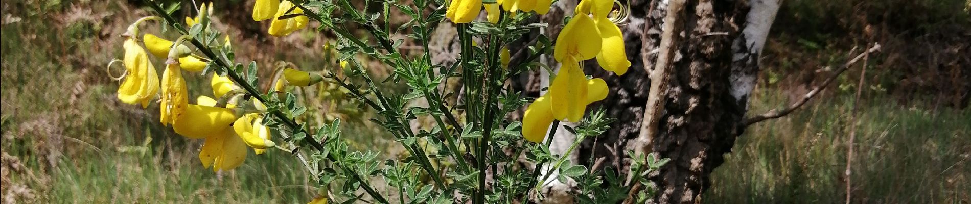
<instances>
[{"instance_id":1,"label":"leftmost long diagonal green stem, sloping down right past left flowers","mask_svg":"<svg viewBox=\"0 0 971 204\"><path fill-rule=\"evenodd\" d=\"M165 21L168 22L170 26L175 27L176 30L178 30L183 35L187 35L188 34L188 32L185 30L185 28L183 26L179 25L177 23L178 21L176 21L175 18L173 18L168 13L165 13L165 11L160 6L158 6L158 4L156 2L151 1L151 2L149 2L149 5L151 6L151 9L152 10L155 10L156 13L158 13L159 15L162 15L162 17L165 18ZM229 76L229 78L232 79L234 82L236 82L236 84L238 84L239 86L243 87L243 89L246 89L246 91L251 94L252 98L255 98L256 101L263 102L264 104L271 104L270 101L268 101L267 99L264 99L263 96L260 95L260 92L257 91L256 88L252 87L250 85L250 83L247 83L246 80L243 79L242 76L240 76L239 74L237 74L235 72L232 72L232 70L230 70L231 66L229 66L228 63L222 61L222 59L218 58L218 55L216 55L216 53L213 52L213 50L209 49L208 46L206 46L205 44L202 44L201 42L199 42L195 38L190 39L190 43L192 43L192 45L194 45L196 48L198 48L200 51L202 51L203 54L206 54L206 56L208 56L209 58L213 59L213 61L219 67L221 67L222 69L225 69L226 75ZM284 123L284 125L287 128L289 128L291 131L304 131L304 130L300 129L300 126L296 122L294 122L293 120L290 120L280 110L270 111L270 114L272 114L273 116L277 117L277 119L280 119L280 121L282 121ZM320 142L318 142L316 139L314 139L313 136L304 137L304 141L307 142L308 144L310 144L312 147L314 147L314 149L316 149L319 152L322 152L324 150L323 145L320 144ZM328 154L327 155L327 159L328 160L336 160L336 158L334 158L334 156L331 155L331 154ZM341 169L343 169L345 171L345 173L347 173L348 175L351 175L354 180L361 181L360 182L361 188L364 189L364 191L367 191L367 193L369 195L371 195L372 198L374 198L375 200L377 200L380 203L388 203L387 200L385 199L385 197L382 196L381 193L378 193L378 191L375 191L373 188L371 188L371 186L367 182L365 182L364 179L360 178L360 175L358 175L357 173L352 172L350 169L347 169L347 168L341 168Z\"/></svg>"}]
</instances>

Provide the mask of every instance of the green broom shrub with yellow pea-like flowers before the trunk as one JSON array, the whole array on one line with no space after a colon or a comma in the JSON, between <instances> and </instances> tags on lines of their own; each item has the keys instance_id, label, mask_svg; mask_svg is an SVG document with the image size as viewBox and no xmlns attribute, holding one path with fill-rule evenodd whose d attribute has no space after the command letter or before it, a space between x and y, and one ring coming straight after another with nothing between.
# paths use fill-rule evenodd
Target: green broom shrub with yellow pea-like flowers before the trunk
<instances>
[{"instance_id":1,"label":"green broom shrub with yellow pea-like flowers before the trunk","mask_svg":"<svg viewBox=\"0 0 971 204\"><path fill-rule=\"evenodd\" d=\"M255 0L252 19L254 23L270 21L266 32L272 36L307 29L311 20L319 23L318 32L335 33L337 40L332 47L339 56L337 69L351 71L349 75L304 72L283 63L269 78L271 88L261 91L256 88L263 79L256 75L256 63L237 63L229 36L210 26L212 14L217 12L212 5L202 4L198 15L179 21L171 15L173 11L149 2L157 16L139 19L123 35L124 56L116 61L122 62L125 72L118 78L124 81L118 87L117 98L148 108L159 96L161 124L171 125L187 138L205 139L199 160L203 167L214 171L239 166L245 162L249 149L256 155L280 149L300 157L320 186L311 203L389 203L388 197L397 197L400 203L535 202L544 199L539 189L553 182L553 178L564 183L575 181L577 185L569 193L580 203L642 201L652 192L651 188L631 188L629 181L646 185L641 176L666 160L637 155L626 170L587 170L566 160L586 136L599 135L615 121L602 111L584 117L587 104L604 100L609 89L603 79L587 76L581 62L596 58L604 70L617 74L630 67L617 25L625 16L622 4L582 0L555 44L549 37L540 36L536 44L528 44L523 50L528 53L525 60L511 65L506 44L526 32L546 27L524 21L549 12L551 0L381 3L383 13L368 14L363 12L366 9L355 8L350 0ZM615 10L615 6L621 9ZM435 9L426 13L425 8ZM477 21L484 8L486 21ZM403 54L398 51L400 42L389 39L391 31L386 23L391 9L412 18L399 30L412 28L408 38L422 45L422 53ZM384 22L378 20L382 15ZM163 21L167 29L162 30L182 36L173 42L141 33L142 23L149 20ZM428 48L430 34L436 29L433 25L446 20L456 24L461 44L461 56L449 67L432 63ZM349 24L367 30L369 40L351 35L345 27ZM473 39L484 45L473 45ZM537 62L539 56L546 54L552 54L562 64L556 76L551 76L554 78L549 93L530 103L519 92L503 86L516 73L549 69L553 65ZM359 55L393 69L384 81L405 83L411 93L392 95L379 89L376 80L354 57ZM161 79L150 58L164 62ZM213 95L197 96L190 102L184 73L212 74ZM364 83L352 82L350 78ZM458 104L446 102L450 96L438 89L447 78L461 78L464 88ZM307 107L298 102L300 92L295 91L304 86L341 87L346 90L342 94L375 109L380 118L371 121L393 134L408 157L380 161L375 160L376 152L349 151L339 118L329 118L320 127L309 125ZM409 105L419 98L428 105ZM521 122L505 120L507 113L526 103L530 104ZM413 131L409 123L419 116L434 119L437 126L430 131ZM559 121L580 124L576 129L564 127L577 139L563 156L550 153L552 139L547 138L559 128ZM534 166L521 165L522 161ZM374 185L376 181L384 184ZM357 194L358 189L363 193Z\"/></svg>"}]
</instances>

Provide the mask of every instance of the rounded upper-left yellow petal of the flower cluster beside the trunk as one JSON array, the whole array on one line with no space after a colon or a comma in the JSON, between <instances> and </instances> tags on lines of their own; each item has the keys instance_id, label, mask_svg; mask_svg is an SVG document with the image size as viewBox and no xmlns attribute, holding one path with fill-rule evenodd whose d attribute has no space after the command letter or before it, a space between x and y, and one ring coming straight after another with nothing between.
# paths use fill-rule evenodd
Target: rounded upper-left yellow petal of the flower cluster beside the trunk
<instances>
[{"instance_id":1,"label":"rounded upper-left yellow petal of the flower cluster beside the trunk","mask_svg":"<svg viewBox=\"0 0 971 204\"><path fill-rule=\"evenodd\" d=\"M600 53L600 32L597 25L586 15L576 15L566 23L563 31L556 37L553 58L564 62L568 56L575 60L586 60Z\"/></svg>"}]
</instances>

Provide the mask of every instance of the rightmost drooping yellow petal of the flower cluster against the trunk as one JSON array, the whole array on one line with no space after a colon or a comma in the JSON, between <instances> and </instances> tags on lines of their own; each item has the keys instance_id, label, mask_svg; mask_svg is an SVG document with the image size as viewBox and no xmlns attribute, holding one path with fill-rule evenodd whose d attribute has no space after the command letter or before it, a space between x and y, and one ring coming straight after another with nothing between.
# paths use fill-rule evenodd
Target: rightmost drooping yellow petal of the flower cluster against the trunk
<instances>
[{"instance_id":1,"label":"rightmost drooping yellow petal of the flower cluster against the trunk","mask_svg":"<svg viewBox=\"0 0 971 204\"><path fill-rule=\"evenodd\" d=\"M606 17L597 19L596 24L603 42L600 53L597 54L597 63L604 70L618 75L627 73L630 61L627 60L627 53L623 48L623 34L620 33L620 28Z\"/></svg>"}]
</instances>

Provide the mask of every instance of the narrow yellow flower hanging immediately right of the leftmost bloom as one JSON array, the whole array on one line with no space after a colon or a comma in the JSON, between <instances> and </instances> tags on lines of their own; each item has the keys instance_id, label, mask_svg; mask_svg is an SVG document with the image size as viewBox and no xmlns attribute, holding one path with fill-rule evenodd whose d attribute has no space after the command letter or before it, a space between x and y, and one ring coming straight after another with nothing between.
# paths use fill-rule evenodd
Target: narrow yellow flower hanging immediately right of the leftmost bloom
<instances>
[{"instance_id":1,"label":"narrow yellow flower hanging immediately right of the leftmost bloom","mask_svg":"<svg viewBox=\"0 0 971 204\"><path fill-rule=\"evenodd\" d=\"M161 122L163 126L173 124L188 106L188 90L179 64L169 64L162 73Z\"/></svg>"}]
</instances>

